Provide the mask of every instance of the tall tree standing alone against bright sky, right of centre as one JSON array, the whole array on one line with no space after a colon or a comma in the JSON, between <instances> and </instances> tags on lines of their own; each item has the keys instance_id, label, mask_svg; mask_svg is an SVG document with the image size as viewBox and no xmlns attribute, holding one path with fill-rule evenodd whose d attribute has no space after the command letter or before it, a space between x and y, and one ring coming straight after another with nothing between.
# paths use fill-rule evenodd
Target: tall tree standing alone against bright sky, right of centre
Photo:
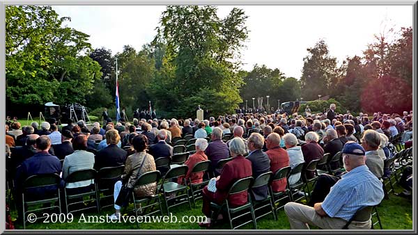
<instances>
[{"instance_id":1,"label":"tall tree standing alone against bright sky, right of centre","mask_svg":"<svg viewBox=\"0 0 418 235\"><path fill-rule=\"evenodd\" d=\"M304 60L300 79L305 100L316 99L317 95L330 95L331 81L335 79L336 58L330 56L327 44L320 40L315 47L308 48L309 55Z\"/></svg>"}]
</instances>

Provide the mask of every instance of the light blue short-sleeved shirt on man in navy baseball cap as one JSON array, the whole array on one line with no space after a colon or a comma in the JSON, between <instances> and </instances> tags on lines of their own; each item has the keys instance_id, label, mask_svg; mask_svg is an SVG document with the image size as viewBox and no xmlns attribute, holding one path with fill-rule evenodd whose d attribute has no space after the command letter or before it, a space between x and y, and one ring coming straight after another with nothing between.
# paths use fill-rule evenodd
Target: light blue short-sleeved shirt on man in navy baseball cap
<instances>
[{"instance_id":1,"label":"light blue short-sleeved shirt on man in navy baseball cap","mask_svg":"<svg viewBox=\"0 0 418 235\"><path fill-rule=\"evenodd\" d=\"M322 208L328 216L348 221L358 209L379 204L385 196L382 187L366 165L358 166L332 186Z\"/></svg>"}]
</instances>

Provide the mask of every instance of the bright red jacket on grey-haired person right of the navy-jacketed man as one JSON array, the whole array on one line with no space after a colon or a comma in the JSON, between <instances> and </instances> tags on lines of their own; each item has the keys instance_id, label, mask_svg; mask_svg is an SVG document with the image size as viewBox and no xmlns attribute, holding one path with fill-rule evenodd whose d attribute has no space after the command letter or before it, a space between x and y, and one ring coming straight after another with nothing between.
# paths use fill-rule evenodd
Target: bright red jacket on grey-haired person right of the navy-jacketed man
<instances>
[{"instance_id":1,"label":"bright red jacket on grey-haired person right of the navy-jacketed man","mask_svg":"<svg viewBox=\"0 0 418 235\"><path fill-rule=\"evenodd\" d=\"M289 166L289 155L285 149L281 147L275 147L265 152L270 159L270 171L273 175L286 166ZM273 192L283 192L286 190L287 179L281 179L272 182Z\"/></svg>"}]
</instances>

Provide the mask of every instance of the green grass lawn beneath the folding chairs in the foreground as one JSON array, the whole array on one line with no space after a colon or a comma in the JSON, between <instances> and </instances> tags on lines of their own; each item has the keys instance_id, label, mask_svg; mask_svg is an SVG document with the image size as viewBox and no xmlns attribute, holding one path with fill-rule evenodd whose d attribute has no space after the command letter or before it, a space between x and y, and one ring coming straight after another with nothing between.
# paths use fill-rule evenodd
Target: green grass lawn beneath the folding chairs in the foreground
<instances>
[{"instance_id":1,"label":"green grass lawn beneath the folding chairs in the foreground","mask_svg":"<svg viewBox=\"0 0 418 235\"><path fill-rule=\"evenodd\" d=\"M396 191L402 191L401 188L396 187ZM164 202L163 202L164 204ZM126 211L132 211L132 204ZM196 203L196 208L189 209L187 204L176 206L171 209L173 216L177 216L180 220L183 216L203 216L201 212L201 200ZM108 207L102 210L100 214L97 211L86 211L84 216L104 216L106 214L114 213L114 209ZM164 216L167 215L167 211L163 207ZM378 213L380 220L382 221L383 229L412 229L412 200L398 197L390 194L389 200L385 199L382 204L378 206ZM12 211L12 217L16 217L16 211ZM81 218L80 213L74 214L74 220L71 223L44 223L42 220L38 220L33 224L27 222L26 229L137 229L137 223L121 222L121 223L95 223L95 222L79 222ZM373 222L376 222L376 218L373 218ZM22 225L15 225L17 229L22 229ZM258 229L290 229L288 219L284 213L284 209L279 210L278 220L274 220L270 214L257 221ZM196 223L142 223L140 229L201 229ZM228 224L219 225L215 229L229 229ZM252 224L242 227L242 229L253 229ZM375 228L377 229L377 228Z\"/></svg>"}]
</instances>

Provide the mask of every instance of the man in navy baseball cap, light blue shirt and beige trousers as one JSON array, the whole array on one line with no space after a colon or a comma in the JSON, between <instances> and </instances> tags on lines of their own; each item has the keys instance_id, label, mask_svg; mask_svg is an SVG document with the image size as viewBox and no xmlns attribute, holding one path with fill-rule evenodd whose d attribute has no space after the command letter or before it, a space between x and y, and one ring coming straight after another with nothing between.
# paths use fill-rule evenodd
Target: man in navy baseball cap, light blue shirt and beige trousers
<instances>
[{"instance_id":1,"label":"man in navy baseball cap, light blue shirt and beige trousers","mask_svg":"<svg viewBox=\"0 0 418 235\"><path fill-rule=\"evenodd\" d=\"M341 152L347 172L341 179L333 177L334 184L330 183L332 180L328 181L330 193L327 193L323 202L316 202L313 207L295 202L288 202L284 206L291 229L309 229L309 225L321 229L342 229L357 210L364 206L375 206L382 201L382 182L367 167L362 145L350 141ZM332 176L321 175L317 184L320 184L321 178L326 177ZM312 194L316 191L317 187ZM348 226L348 229L370 228L371 219L354 221Z\"/></svg>"}]
</instances>

